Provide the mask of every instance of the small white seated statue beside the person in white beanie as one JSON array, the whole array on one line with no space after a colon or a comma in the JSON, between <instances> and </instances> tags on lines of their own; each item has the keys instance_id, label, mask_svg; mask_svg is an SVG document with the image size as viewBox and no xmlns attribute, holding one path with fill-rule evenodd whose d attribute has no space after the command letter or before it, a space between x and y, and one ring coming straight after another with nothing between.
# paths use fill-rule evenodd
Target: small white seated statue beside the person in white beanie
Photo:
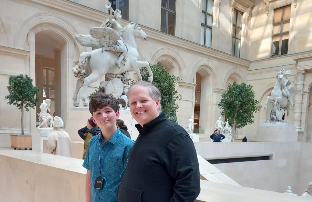
<instances>
[{"instance_id":1,"label":"small white seated statue beside the person in white beanie","mask_svg":"<svg viewBox=\"0 0 312 202\"><path fill-rule=\"evenodd\" d=\"M40 121L38 128L49 128L48 121L50 121L50 128L52 128L53 117L50 114L51 112L50 105L51 99L46 99L45 103L44 102L41 103L40 105L41 111L40 113L37 113Z\"/></svg>"}]
</instances>

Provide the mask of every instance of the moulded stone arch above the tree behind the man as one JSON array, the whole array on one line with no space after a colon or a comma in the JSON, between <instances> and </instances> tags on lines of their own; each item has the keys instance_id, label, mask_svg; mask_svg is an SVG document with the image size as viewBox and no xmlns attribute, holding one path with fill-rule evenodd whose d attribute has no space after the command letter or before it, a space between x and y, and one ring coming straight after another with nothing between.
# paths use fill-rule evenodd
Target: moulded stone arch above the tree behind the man
<instances>
[{"instance_id":1,"label":"moulded stone arch above the tree behind the man","mask_svg":"<svg viewBox=\"0 0 312 202\"><path fill-rule=\"evenodd\" d=\"M165 61L165 63L172 65L175 70L174 74L183 80L186 67L184 66L181 56L172 48L160 48L151 58L151 63L155 64L157 61ZM165 64L163 64L165 65Z\"/></svg>"}]
</instances>

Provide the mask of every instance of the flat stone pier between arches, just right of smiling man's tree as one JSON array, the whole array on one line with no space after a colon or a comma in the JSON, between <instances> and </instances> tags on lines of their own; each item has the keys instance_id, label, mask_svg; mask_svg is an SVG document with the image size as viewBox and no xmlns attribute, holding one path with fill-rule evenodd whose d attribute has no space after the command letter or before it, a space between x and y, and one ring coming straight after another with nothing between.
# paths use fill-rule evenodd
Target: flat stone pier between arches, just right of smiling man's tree
<instances>
[{"instance_id":1,"label":"flat stone pier between arches, just right of smiling man's tree","mask_svg":"<svg viewBox=\"0 0 312 202\"><path fill-rule=\"evenodd\" d=\"M177 113L178 123L186 128L186 123L191 115L194 115L195 106L195 86L196 84L179 82L178 93L182 96L182 100L178 101L179 108Z\"/></svg>"}]
</instances>

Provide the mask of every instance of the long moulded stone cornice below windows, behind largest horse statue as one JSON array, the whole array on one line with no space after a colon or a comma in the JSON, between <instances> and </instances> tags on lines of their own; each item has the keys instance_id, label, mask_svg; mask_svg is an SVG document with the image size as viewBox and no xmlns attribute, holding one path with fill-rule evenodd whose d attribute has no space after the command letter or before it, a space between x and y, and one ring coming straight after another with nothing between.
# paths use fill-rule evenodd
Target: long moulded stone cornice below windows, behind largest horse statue
<instances>
[{"instance_id":1,"label":"long moulded stone cornice below windows, behind largest horse statue","mask_svg":"<svg viewBox=\"0 0 312 202\"><path fill-rule=\"evenodd\" d=\"M71 2L71 1L64 1L64 0L13 0L16 2L20 2L22 4L31 5L34 7L49 7L49 11L55 12L58 10L63 13L70 14L72 17L73 15L84 22L93 22L95 24L101 24L104 20L108 18L108 14ZM241 0L246 1L246 0ZM249 1L249 0L248 0ZM77 12L79 11L79 12ZM58 12L60 13L60 12ZM60 13L62 14L62 13ZM125 26L128 24L129 21L122 19L121 25ZM192 41L187 41L182 38L178 38L176 36L172 36L161 31L154 30L152 28L142 26L141 28L145 31L145 33L149 36L149 40L152 42L157 42L158 44L162 44L164 46L171 46L178 48L179 50L184 50L186 52L200 55L205 58L217 60L219 62L227 63L230 65L234 65L240 68L248 69L250 65L250 61L233 56L231 54L224 53L219 50L214 50L211 48L207 48L206 46L202 46Z\"/></svg>"}]
</instances>

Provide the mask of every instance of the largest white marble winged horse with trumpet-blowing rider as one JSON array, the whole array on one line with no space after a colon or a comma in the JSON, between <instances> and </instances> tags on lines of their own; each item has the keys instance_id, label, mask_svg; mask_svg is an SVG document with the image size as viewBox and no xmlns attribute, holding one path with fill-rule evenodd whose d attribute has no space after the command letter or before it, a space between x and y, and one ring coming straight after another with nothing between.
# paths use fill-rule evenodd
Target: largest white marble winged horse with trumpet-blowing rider
<instances>
[{"instance_id":1,"label":"largest white marble winged horse with trumpet-blowing rider","mask_svg":"<svg viewBox=\"0 0 312 202\"><path fill-rule=\"evenodd\" d=\"M111 7L110 11L113 11ZM113 12L114 16L112 16ZM84 87L81 99L84 106L89 106L89 101L86 98L88 86L108 73L118 75L126 71L135 71L138 79L142 80L139 68L146 67L149 72L148 81L150 83L153 81L153 73L149 63L138 60L139 53L135 41L136 38L147 41L148 36L134 22L122 28L120 11L117 9L113 12L110 12L109 19L100 27L92 28L90 35L75 36L82 46L92 47L90 52L83 52L79 55L78 65L73 68L74 76L78 78L73 94L75 107L79 107L77 95L82 85ZM120 88L123 87L120 86Z\"/></svg>"}]
</instances>

